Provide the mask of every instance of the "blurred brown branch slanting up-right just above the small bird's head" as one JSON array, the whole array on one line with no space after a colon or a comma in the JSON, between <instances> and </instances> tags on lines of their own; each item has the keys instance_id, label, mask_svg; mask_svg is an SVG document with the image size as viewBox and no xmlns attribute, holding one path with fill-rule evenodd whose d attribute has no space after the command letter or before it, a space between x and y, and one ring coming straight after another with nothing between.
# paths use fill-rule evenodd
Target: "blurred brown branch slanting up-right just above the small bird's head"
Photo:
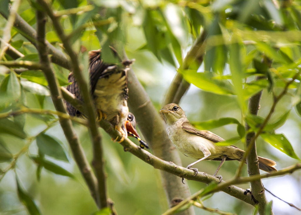
<instances>
[{"instance_id":1,"label":"blurred brown branch slanting up-right just above the small bird's head","mask_svg":"<svg viewBox=\"0 0 301 215\"><path fill-rule=\"evenodd\" d=\"M186 70L189 69L192 65L195 68L198 68L203 62L203 55L205 53L205 46L207 33L205 30L197 37L192 45L191 49L187 53L183 64L179 69ZM179 103L184 93L188 90L190 84L183 79L183 76L180 73L177 73L172 80L172 83L169 86L168 91L166 92L162 107L165 104L169 103Z\"/></svg>"}]
</instances>

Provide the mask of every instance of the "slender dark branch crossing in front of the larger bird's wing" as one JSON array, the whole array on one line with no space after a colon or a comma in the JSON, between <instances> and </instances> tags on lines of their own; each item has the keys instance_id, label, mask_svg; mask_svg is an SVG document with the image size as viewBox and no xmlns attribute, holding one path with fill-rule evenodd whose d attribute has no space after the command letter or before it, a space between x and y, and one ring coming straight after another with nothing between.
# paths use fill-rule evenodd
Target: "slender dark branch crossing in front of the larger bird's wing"
<instances>
[{"instance_id":1,"label":"slender dark branch crossing in front of the larger bird's wing","mask_svg":"<svg viewBox=\"0 0 301 215\"><path fill-rule=\"evenodd\" d=\"M66 49L68 55L70 56L71 63L72 63L72 71L73 75L76 78L76 81L79 85L79 89L82 93L82 98L84 100L84 109L86 110L85 113L87 114L88 122L89 122L89 131L92 136L93 142L93 167L96 173L96 177L98 180L97 185L97 200L98 200L98 207L104 208L107 207L107 194L106 194L106 184L105 184L105 174L104 174L104 164L102 158L102 146L101 146L101 135L97 129L96 123L96 116L95 116L95 109L94 103L92 101L92 95L89 91L88 82L85 80L85 77L82 74L82 71L79 67L79 61L77 54L73 51L70 41L66 37L64 30L59 23L58 17L54 15L51 7L48 5L47 2L44 0L38 0L39 4L42 5L47 15L51 18L54 29L57 32L57 35L60 37L61 41L63 42L64 48Z\"/></svg>"}]
</instances>

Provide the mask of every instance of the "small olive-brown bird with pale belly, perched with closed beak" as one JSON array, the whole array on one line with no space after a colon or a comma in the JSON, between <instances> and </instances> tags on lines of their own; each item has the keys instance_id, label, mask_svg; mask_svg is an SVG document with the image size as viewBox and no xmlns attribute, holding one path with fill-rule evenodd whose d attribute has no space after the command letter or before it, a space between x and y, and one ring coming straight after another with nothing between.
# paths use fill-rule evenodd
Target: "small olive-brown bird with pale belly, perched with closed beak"
<instances>
[{"instance_id":1,"label":"small olive-brown bird with pale belly, perched with closed beak","mask_svg":"<svg viewBox=\"0 0 301 215\"><path fill-rule=\"evenodd\" d=\"M219 146L217 142L225 141L213 132L207 130L199 130L187 119L183 109L175 103L166 104L160 112L164 116L166 122L166 131L169 139L182 154L187 157L197 159L197 161L189 164L186 168L194 170L196 176L197 168L191 168L194 164L202 160L220 160L221 163L213 176L221 168L225 160L241 161L245 151L234 145ZM259 169L265 172L277 171L276 162L268 158L258 156ZM216 176L218 177L218 176ZM219 176L220 181L221 176ZM182 179L183 181L183 179Z\"/></svg>"}]
</instances>

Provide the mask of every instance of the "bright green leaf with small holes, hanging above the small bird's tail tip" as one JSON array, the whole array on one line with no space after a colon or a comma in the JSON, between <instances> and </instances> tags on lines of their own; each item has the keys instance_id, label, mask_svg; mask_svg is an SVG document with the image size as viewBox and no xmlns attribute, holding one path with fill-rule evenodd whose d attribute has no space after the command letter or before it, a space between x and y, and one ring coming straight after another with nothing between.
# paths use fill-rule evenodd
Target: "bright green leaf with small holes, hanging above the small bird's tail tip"
<instances>
[{"instance_id":1,"label":"bright green leaf with small holes, hanging above the small bird's tail tip","mask_svg":"<svg viewBox=\"0 0 301 215\"><path fill-rule=\"evenodd\" d=\"M282 151L283 153L287 154L288 156L300 160L297 156L296 152L294 151L292 145L284 136L283 134L269 134L269 133L262 133L260 135L266 142L270 143L272 146L277 148L278 150Z\"/></svg>"}]
</instances>

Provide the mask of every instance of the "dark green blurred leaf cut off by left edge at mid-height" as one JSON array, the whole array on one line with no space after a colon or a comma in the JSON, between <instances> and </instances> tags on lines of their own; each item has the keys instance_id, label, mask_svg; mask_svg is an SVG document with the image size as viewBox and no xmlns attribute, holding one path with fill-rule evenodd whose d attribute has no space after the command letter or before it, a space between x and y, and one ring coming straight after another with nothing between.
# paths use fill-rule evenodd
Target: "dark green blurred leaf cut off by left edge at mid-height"
<instances>
[{"instance_id":1,"label":"dark green blurred leaf cut off by left edge at mid-height","mask_svg":"<svg viewBox=\"0 0 301 215\"><path fill-rule=\"evenodd\" d=\"M9 120L8 118L0 119L0 133L10 134L21 139L25 139L27 137L26 133L20 126Z\"/></svg>"}]
</instances>

